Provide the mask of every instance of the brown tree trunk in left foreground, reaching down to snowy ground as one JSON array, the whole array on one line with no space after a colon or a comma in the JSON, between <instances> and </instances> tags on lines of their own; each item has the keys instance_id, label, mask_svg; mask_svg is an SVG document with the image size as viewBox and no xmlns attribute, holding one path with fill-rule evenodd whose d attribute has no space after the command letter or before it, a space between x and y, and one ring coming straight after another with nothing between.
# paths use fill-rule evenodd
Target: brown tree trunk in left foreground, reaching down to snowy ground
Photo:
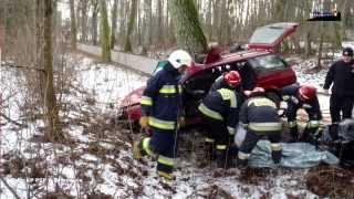
<instances>
[{"instance_id":1,"label":"brown tree trunk in left foreground, reaching down to snowy ground","mask_svg":"<svg viewBox=\"0 0 354 199\"><path fill-rule=\"evenodd\" d=\"M53 80L53 49L52 49L52 0L44 0L44 71L45 71L45 107L48 130L44 137L50 142L64 142L65 136L60 126L59 106L56 104Z\"/></svg>"}]
</instances>

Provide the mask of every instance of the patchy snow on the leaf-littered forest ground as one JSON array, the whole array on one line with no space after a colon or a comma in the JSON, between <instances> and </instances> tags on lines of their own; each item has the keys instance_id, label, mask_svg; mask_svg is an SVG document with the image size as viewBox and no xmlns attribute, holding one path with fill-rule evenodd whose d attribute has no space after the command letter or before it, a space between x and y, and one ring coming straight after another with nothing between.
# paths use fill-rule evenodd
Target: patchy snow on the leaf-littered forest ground
<instances>
[{"instance_id":1,"label":"patchy snow on the leaf-littered forest ground","mask_svg":"<svg viewBox=\"0 0 354 199\"><path fill-rule=\"evenodd\" d=\"M42 198L49 192L75 198L316 198L304 185L306 170L251 171L251 177L243 178L238 169L197 167L192 155L178 159L176 181L159 179L153 161L132 158L132 133L113 122L117 102L147 77L83 55L72 55L67 63L71 86L61 96L66 105L61 116L74 142L64 145L37 140L42 122L21 116L29 97L23 73L0 67L2 113L28 125L2 119L0 130L0 174L21 198ZM305 61L295 67L299 82L320 87L325 72L304 74L311 64ZM327 105L327 97L320 101ZM0 182L2 198L14 197Z\"/></svg>"}]
</instances>

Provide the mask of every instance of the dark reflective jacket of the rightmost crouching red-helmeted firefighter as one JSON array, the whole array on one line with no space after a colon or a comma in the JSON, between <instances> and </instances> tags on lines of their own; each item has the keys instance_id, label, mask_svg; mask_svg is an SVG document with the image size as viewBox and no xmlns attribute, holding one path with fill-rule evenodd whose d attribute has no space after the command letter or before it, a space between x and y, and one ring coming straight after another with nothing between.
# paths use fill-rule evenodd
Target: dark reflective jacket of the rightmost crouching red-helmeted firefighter
<instances>
[{"instance_id":1,"label":"dark reflective jacket of the rightmost crouching red-helmeted firefighter","mask_svg":"<svg viewBox=\"0 0 354 199\"><path fill-rule=\"evenodd\" d=\"M295 125L296 112L299 108L305 109L309 114L309 127L319 127L322 119L319 98L314 97L311 102L303 102L298 96L300 85L289 85L282 88L282 100L287 102L287 116L290 127Z\"/></svg>"}]
</instances>

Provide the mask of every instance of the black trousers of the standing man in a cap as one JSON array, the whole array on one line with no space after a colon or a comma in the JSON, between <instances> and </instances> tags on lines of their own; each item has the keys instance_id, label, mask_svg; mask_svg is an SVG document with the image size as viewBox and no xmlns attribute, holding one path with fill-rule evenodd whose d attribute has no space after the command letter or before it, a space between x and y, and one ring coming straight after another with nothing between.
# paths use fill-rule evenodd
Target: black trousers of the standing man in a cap
<instances>
[{"instance_id":1,"label":"black trousers of the standing man in a cap","mask_svg":"<svg viewBox=\"0 0 354 199\"><path fill-rule=\"evenodd\" d=\"M352 118L353 100L354 97L331 95L330 112L332 123L339 123L344 118ZM341 118L342 112L342 118Z\"/></svg>"}]
</instances>

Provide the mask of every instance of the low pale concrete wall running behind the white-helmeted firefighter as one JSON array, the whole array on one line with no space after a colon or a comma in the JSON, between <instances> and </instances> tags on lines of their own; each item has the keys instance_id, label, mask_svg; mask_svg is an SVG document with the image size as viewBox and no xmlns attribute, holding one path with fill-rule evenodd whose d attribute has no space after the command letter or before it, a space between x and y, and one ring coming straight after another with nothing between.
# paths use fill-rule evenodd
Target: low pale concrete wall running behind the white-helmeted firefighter
<instances>
[{"instance_id":1,"label":"low pale concrete wall running behind the white-helmeted firefighter","mask_svg":"<svg viewBox=\"0 0 354 199\"><path fill-rule=\"evenodd\" d=\"M77 49L80 51L86 52L92 55L100 56L101 48L86 45L86 44L77 44ZM153 74L155 66L157 65L157 60L148 59L145 56L139 56L135 54L128 54L117 51L112 51L112 61L124 66L131 67L133 70L139 71L145 74Z\"/></svg>"}]
</instances>

